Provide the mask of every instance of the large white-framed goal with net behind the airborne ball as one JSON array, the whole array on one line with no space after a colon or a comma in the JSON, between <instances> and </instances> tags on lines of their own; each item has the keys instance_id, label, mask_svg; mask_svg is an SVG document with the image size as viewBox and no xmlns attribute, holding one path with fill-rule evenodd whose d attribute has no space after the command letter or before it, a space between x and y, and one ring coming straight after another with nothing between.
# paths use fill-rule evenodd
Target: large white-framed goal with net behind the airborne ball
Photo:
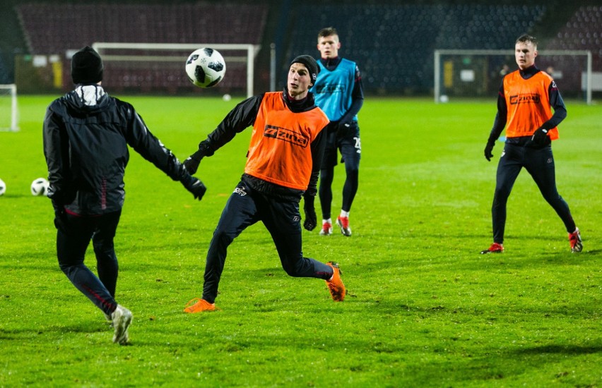
<instances>
[{"instance_id":1,"label":"large white-framed goal with net behind the airborne ball","mask_svg":"<svg viewBox=\"0 0 602 388\"><path fill-rule=\"evenodd\" d=\"M226 63L224 79L202 89L206 95L253 95L254 61L259 45L96 42L93 48L105 64L103 83L122 92L191 94L201 88L189 81L184 64L201 47L220 51ZM73 53L68 53L68 55Z\"/></svg>"}]
</instances>

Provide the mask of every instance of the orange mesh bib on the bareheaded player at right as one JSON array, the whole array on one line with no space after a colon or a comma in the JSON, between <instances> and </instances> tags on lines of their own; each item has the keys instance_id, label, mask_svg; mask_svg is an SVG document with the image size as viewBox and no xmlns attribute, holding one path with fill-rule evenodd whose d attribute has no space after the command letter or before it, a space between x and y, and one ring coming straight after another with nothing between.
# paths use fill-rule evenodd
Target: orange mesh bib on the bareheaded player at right
<instances>
[{"instance_id":1,"label":"orange mesh bib on the bareheaded player at right","mask_svg":"<svg viewBox=\"0 0 602 388\"><path fill-rule=\"evenodd\" d=\"M531 136L537 128L552 117L548 87L552 77L542 71L525 80L520 72L513 71L504 77L504 97L508 117L506 137ZM548 131L550 140L558 138L558 128Z\"/></svg>"}]
</instances>

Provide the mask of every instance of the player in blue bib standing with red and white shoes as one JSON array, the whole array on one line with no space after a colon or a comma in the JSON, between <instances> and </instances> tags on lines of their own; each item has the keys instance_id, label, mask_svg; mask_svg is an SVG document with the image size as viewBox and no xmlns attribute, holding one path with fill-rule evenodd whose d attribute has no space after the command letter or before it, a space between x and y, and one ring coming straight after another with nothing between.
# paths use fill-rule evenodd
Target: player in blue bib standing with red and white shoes
<instances>
[{"instance_id":1,"label":"player in blue bib standing with red and white shoes","mask_svg":"<svg viewBox=\"0 0 602 388\"><path fill-rule=\"evenodd\" d=\"M345 163L346 179L343 184L343 202L336 224L343 236L351 236L349 212L353 198L358 192L360 156L360 126L358 112L364 104L362 77L355 62L338 56L341 42L335 28L323 28L318 33L320 51L320 73L310 90L314 93L316 104L330 123L326 130L326 150L320 169L319 197L322 210L321 235L332 233L331 202L334 167L338 152L341 150L341 162Z\"/></svg>"}]
</instances>

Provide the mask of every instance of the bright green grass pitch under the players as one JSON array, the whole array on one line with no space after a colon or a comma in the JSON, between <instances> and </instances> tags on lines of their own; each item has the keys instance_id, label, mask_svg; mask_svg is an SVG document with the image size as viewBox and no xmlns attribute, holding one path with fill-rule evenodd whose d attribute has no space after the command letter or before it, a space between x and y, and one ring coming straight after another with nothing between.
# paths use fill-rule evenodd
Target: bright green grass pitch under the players
<instances>
[{"instance_id":1,"label":"bright green grass pitch under the players","mask_svg":"<svg viewBox=\"0 0 602 388\"><path fill-rule=\"evenodd\" d=\"M201 162L201 202L131 152L115 243L117 301L134 322L131 346L117 346L100 310L59 270L49 200L29 193L46 175L41 128L53 98L20 97L20 132L0 133L0 386L602 385L602 107L568 102L553 145L584 251L569 253L562 222L523 171L506 251L479 255L492 240L503 147L492 162L483 157L495 101L367 99L353 236L303 232L305 255L340 262L343 303L324 281L288 277L257 224L230 247L223 310L182 313L201 296L208 243L250 130ZM180 159L234 106L124 99ZM338 166L334 210L343 176ZM86 263L95 269L91 247Z\"/></svg>"}]
</instances>

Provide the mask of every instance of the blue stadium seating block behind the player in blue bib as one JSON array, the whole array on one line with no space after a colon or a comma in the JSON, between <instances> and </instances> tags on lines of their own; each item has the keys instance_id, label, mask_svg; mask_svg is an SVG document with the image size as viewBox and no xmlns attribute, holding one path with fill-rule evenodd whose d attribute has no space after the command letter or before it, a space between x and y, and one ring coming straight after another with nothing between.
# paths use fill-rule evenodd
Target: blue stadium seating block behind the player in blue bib
<instances>
[{"instance_id":1,"label":"blue stadium seating block behind the player in blue bib","mask_svg":"<svg viewBox=\"0 0 602 388\"><path fill-rule=\"evenodd\" d=\"M297 5L297 13L304 4ZM435 49L511 49L541 20L545 6L482 4L321 4L293 28L290 59L317 56L317 32L334 26L341 54L354 59L367 92L425 94L433 85Z\"/></svg>"}]
</instances>

